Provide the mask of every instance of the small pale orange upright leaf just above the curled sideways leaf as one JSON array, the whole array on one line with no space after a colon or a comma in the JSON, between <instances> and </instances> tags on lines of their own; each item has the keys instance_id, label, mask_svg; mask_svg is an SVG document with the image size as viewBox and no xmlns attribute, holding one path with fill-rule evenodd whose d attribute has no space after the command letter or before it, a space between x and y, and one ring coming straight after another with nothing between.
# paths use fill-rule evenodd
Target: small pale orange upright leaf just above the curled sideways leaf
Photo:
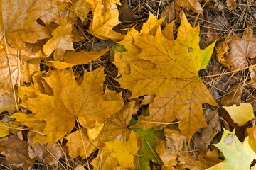
<instances>
[{"instance_id":1,"label":"small pale orange upright leaf just above the curled sideways leaf","mask_svg":"<svg viewBox=\"0 0 256 170\"><path fill-rule=\"evenodd\" d=\"M63 60L66 50L74 50L71 34L72 24L70 22L61 24L53 30L53 38L50 38L46 45L43 45L43 52L49 56L54 51L54 59L57 61Z\"/></svg>"}]
</instances>

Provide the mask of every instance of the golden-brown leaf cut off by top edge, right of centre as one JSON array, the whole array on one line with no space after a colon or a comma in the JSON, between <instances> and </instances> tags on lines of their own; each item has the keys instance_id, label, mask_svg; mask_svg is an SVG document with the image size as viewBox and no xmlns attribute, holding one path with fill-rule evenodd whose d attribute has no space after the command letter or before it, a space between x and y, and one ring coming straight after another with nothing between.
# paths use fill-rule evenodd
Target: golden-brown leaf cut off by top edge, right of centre
<instances>
[{"instance_id":1,"label":"golden-brown leaf cut off by top edge, right of centre","mask_svg":"<svg viewBox=\"0 0 256 170\"><path fill-rule=\"evenodd\" d=\"M200 13L203 15L203 8L198 0L175 0L175 3L183 8L192 10L194 13Z\"/></svg>"}]
</instances>

